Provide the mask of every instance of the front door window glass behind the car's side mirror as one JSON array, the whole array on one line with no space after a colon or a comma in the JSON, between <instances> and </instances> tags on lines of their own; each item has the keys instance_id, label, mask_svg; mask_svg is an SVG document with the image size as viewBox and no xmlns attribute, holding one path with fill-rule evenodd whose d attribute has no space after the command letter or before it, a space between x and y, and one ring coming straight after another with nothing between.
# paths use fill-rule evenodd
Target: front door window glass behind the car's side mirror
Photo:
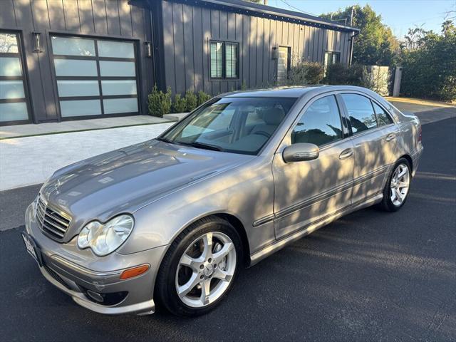
<instances>
[{"instance_id":1,"label":"front door window glass behind the car's side mirror","mask_svg":"<svg viewBox=\"0 0 456 342\"><path fill-rule=\"evenodd\" d=\"M310 142L321 146L339 139L342 139L341 116L333 95L312 103L291 133L292 144Z\"/></svg>"}]
</instances>

